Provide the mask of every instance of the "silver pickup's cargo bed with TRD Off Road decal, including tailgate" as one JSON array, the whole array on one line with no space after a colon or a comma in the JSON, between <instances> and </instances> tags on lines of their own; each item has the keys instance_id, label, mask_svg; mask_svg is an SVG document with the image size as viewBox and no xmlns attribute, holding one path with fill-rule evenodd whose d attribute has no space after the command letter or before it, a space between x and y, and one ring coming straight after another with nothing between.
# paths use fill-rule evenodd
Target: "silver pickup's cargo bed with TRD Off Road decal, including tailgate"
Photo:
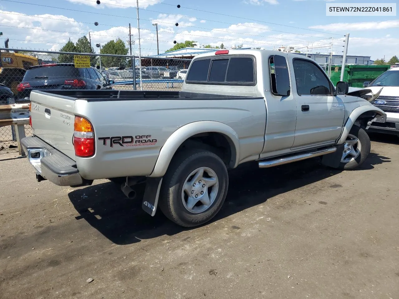
<instances>
[{"instance_id":1,"label":"silver pickup's cargo bed with TRD Off Road decal, including tailgate","mask_svg":"<svg viewBox=\"0 0 399 299\"><path fill-rule=\"evenodd\" d=\"M194 135L201 134L205 125L209 126L206 132L219 132L220 126L234 132L240 161L259 157L264 144L267 114L262 97L179 91L35 90L30 99L34 135L76 161L79 173L89 180L150 175L165 142L188 124L198 131ZM93 126L95 154L91 157L75 155L75 116L86 118ZM179 132L181 142L191 136L184 135L186 130ZM134 144L111 144L110 138L128 138ZM178 142L177 137L172 139Z\"/></svg>"}]
</instances>

